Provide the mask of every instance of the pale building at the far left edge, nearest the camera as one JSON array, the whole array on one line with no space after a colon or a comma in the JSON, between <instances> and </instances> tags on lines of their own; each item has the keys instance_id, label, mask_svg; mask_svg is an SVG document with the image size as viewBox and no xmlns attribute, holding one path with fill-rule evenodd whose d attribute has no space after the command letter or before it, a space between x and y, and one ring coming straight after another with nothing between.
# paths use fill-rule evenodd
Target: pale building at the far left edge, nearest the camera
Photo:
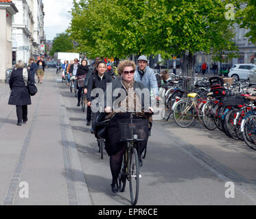
<instances>
[{"instance_id":1,"label":"pale building at the far left edge, nearest the camera","mask_svg":"<svg viewBox=\"0 0 256 219\"><path fill-rule=\"evenodd\" d=\"M0 0L0 82L5 71L12 67L12 18L18 12L11 0Z\"/></svg>"}]
</instances>

